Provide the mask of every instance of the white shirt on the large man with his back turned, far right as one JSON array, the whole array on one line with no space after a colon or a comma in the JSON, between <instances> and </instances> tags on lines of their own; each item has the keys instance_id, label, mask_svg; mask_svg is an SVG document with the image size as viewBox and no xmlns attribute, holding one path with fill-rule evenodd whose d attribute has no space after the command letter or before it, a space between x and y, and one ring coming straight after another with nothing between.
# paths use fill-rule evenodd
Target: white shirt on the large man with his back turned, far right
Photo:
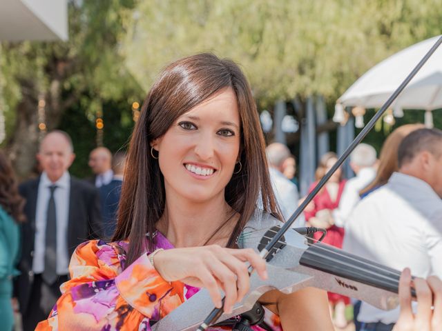
<instances>
[{"instance_id":1,"label":"white shirt on the large man with his back turned, far right","mask_svg":"<svg viewBox=\"0 0 442 331\"><path fill-rule=\"evenodd\" d=\"M345 225L343 249L417 277L442 277L442 199L425 181L394 172L362 199ZM399 309L362 303L358 321L395 323Z\"/></svg>"}]
</instances>

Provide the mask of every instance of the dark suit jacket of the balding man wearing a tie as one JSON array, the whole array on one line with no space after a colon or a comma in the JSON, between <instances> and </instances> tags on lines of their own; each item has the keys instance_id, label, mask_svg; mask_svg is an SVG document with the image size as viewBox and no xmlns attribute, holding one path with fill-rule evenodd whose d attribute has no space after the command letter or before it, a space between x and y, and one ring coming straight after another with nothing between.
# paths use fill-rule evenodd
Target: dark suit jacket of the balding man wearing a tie
<instances>
[{"instance_id":1,"label":"dark suit jacket of the balding man wearing a tie","mask_svg":"<svg viewBox=\"0 0 442 331\"><path fill-rule=\"evenodd\" d=\"M19 299L22 314L26 313L34 272L32 257L35 241L35 212L40 178L31 179L19 186L19 192L26 199L24 212L26 223L21 225L21 260L18 269L20 276L15 281L15 295ZM68 256L77 245L102 236L99 194L95 187L75 177L70 177L69 219L68 219ZM36 303L37 304L37 303Z\"/></svg>"}]
</instances>

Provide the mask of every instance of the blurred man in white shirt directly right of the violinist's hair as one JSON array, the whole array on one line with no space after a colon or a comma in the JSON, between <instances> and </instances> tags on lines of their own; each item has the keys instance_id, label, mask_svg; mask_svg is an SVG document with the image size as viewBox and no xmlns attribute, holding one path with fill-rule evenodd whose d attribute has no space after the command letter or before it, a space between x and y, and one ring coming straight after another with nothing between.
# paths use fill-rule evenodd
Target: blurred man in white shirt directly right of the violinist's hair
<instances>
[{"instance_id":1,"label":"blurred man in white shirt directly right of the violinist's hair","mask_svg":"<svg viewBox=\"0 0 442 331\"><path fill-rule=\"evenodd\" d=\"M299 200L298 188L282 174L284 162L291 157L291 153L284 144L271 143L266 148L266 154L273 192L275 192L282 217L287 220L298 207ZM294 225L304 226L305 221L300 217Z\"/></svg>"}]
</instances>

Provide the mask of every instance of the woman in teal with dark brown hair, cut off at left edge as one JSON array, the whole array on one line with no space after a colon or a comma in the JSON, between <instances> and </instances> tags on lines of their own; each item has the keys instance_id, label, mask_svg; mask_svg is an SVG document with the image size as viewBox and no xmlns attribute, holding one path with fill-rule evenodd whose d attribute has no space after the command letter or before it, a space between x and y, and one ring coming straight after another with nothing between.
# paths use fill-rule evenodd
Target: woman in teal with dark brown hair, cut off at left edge
<instances>
[{"instance_id":1,"label":"woman in teal with dark brown hair, cut off at left edge","mask_svg":"<svg viewBox=\"0 0 442 331\"><path fill-rule=\"evenodd\" d=\"M12 330L12 277L19 259L19 223L25 221L24 200L19 196L12 167L0 152L0 321L1 330Z\"/></svg>"}]
</instances>

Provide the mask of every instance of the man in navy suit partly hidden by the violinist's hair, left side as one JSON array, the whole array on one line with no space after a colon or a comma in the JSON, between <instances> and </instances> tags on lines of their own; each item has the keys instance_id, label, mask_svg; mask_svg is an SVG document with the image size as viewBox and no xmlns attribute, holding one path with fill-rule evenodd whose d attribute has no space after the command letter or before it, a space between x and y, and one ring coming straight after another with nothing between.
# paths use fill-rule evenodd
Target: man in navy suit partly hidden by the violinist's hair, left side
<instances>
[{"instance_id":1,"label":"man in navy suit partly hidden by the violinist's hair, left side","mask_svg":"<svg viewBox=\"0 0 442 331\"><path fill-rule=\"evenodd\" d=\"M104 238L111 239L117 224L119 197L122 194L126 153L116 152L112 158L113 179L111 183L99 188L99 197L102 201L102 218Z\"/></svg>"}]
</instances>

